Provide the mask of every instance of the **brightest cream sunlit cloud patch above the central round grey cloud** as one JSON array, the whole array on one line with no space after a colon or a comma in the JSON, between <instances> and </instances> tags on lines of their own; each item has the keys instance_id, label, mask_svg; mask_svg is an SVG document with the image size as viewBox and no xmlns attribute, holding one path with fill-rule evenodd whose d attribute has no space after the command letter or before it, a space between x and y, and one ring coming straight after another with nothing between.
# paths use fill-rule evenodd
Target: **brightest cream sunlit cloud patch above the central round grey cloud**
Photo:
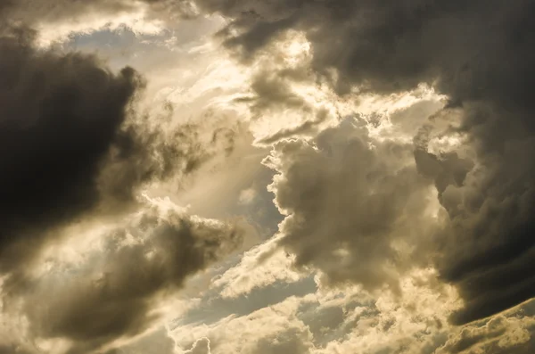
<instances>
[{"instance_id":1,"label":"brightest cream sunlit cloud patch above the central round grey cloud","mask_svg":"<svg viewBox=\"0 0 535 354\"><path fill-rule=\"evenodd\" d=\"M401 136L392 127L391 114L406 110L423 101L440 102L430 86L392 95L360 95L353 93L341 97L333 87L311 74L307 68L312 61L310 43L299 31L288 31L251 65L264 77L272 76L282 87L288 101L260 111L251 122L256 143L273 144L287 137L312 137L325 128L333 127L342 117L358 115L365 119L370 136L376 141L394 139L407 141L412 135ZM277 97L282 101L283 97ZM300 100L300 104L299 103ZM285 104L287 106L285 106Z\"/></svg>"}]
</instances>

